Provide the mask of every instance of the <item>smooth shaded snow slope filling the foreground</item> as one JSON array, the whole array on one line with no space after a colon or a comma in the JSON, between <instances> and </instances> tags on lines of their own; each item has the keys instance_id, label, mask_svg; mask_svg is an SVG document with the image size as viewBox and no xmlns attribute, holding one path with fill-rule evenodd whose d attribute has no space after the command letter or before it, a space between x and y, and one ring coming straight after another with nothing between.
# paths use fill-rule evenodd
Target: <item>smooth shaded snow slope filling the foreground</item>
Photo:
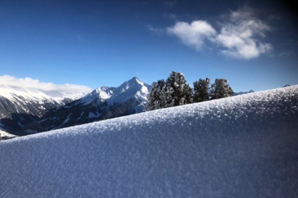
<instances>
[{"instance_id":1,"label":"smooth shaded snow slope filling the foreground","mask_svg":"<svg viewBox=\"0 0 298 198\"><path fill-rule=\"evenodd\" d=\"M298 197L298 86L0 143L0 197Z\"/></svg>"}]
</instances>

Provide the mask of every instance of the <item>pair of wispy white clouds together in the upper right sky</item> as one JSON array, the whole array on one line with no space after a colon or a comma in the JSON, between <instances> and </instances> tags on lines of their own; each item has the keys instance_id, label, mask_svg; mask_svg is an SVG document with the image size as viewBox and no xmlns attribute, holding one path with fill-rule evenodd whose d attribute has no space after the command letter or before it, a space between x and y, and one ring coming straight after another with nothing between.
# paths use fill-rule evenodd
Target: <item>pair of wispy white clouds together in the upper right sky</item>
<instances>
[{"instance_id":1,"label":"pair of wispy white clouds together in the upper right sky","mask_svg":"<svg viewBox=\"0 0 298 198\"><path fill-rule=\"evenodd\" d=\"M243 7L223 16L223 22L216 31L208 21L195 20L192 23L176 22L167 28L167 33L177 36L185 45L201 50L206 40L224 55L240 58L256 58L272 50L272 45L263 42L269 25L255 17L255 11Z\"/></svg>"}]
</instances>

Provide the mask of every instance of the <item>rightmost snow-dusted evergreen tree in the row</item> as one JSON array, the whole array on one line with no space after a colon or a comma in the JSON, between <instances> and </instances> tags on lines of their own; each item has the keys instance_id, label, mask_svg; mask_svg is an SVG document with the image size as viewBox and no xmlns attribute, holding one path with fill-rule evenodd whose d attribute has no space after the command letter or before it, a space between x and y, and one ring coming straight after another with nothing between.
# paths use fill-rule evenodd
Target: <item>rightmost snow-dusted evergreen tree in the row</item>
<instances>
[{"instance_id":1,"label":"rightmost snow-dusted evergreen tree in the row","mask_svg":"<svg viewBox=\"0 0 298 198\"><path fill-rule=\"evenodd\" d=\"M211 99L225 98L233 95L234 91L228 85L228 80L225 78L216 78L215 83L211 85Z\"/></svg>"}]
</instances>

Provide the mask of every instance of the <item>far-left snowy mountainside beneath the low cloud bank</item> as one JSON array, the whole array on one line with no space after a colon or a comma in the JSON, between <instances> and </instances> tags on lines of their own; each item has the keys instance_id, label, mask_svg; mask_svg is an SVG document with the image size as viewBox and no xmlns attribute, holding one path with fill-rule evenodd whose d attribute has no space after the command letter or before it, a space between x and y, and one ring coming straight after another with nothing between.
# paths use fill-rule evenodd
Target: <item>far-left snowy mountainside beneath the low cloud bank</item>
<instances>
[{"instance_id":1,"label":"far-left snowy mountainside beneath the low cloud bank","mask_svg":"<svg viewBox=\"0 0 298 198\"><path fill-rule=\"evenodd\" d=\"M0 84L0 130L19 131L48 110L83 97L86 92L62 92Z\"/></svg>"}]
</instances>

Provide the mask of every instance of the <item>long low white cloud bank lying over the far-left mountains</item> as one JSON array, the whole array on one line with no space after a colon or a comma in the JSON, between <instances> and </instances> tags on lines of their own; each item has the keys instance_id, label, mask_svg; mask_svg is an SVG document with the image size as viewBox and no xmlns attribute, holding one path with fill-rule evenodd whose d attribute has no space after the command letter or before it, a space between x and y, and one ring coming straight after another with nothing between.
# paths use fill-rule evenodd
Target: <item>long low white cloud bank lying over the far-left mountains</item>
<instances>
[{"instance_id":1,"label":"long low white cloud bank lying over the far-left mountains","mask_svg":"<svg viewBox=\"0 0 298 198\"><path fill-rule=\"evenodd\" d=\"M82 85L45 83L40 82L37 79L28 77L16 78L10 75L1 75L0 85L9 85L21 88L35 88L44 91L57 90L64 93L87 93L91 91L91 88Z\"/></svg>"}]
</instances>

